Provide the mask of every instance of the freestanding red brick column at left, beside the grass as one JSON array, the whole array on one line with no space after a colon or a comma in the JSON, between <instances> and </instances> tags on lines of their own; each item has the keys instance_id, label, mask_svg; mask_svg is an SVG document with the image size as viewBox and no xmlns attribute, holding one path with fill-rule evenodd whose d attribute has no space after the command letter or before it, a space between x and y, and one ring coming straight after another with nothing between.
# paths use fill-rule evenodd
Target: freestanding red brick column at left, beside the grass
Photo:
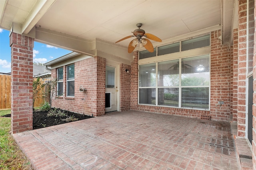
<instances>
[{"instance_id":1,"label":"freestanding red brick column at left, beside the grass","mask_svg":"<svg viewBox=\"0 0 256 170\"><path fill-rule=\"evenodd\" d=\"M12 53L11 130L33 129L33 47L34 39L11 33Z\"/></svg>"}]
</instances>

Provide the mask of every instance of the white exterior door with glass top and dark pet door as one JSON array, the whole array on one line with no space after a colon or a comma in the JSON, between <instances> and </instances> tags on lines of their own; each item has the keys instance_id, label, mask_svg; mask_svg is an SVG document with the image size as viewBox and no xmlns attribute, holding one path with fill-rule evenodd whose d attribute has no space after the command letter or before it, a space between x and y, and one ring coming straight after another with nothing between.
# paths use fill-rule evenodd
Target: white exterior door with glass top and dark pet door
<instances>
[{"instance_id":1,"label":"white exterior door with glass top and dark pet door","mask_svg":"<svg viewBox=\"0 0 256 170\"><path fill-rule=\"evenodd\" d=\"M118 111L118 64L106 65L105 112Z\"/></svg>"}]
</instances>

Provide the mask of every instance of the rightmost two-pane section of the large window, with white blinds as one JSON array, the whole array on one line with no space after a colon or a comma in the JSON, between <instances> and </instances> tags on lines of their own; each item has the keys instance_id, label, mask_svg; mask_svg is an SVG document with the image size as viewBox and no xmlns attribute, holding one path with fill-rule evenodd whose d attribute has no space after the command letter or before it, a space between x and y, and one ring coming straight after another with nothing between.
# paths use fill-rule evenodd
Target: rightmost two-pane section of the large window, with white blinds
<instances>
[{"instance_id":1,"label":"rightmost two-pane section of the large window, with white blinds","mask_svg":"<svg viewBox=\"0 0 256 170\"><path fill-rule=\"evenodd\" d=\"M209 108L210 57L209 55L182 59L181 107Z\"/></svg>"}]
</instances>

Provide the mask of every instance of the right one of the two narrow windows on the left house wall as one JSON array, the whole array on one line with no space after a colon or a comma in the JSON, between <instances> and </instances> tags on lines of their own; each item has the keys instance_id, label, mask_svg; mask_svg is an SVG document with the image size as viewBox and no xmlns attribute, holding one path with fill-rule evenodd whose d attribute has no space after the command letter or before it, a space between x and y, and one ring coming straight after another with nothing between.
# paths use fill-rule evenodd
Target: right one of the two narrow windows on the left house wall
<instances>
[{"instance_id":1,"label":"right one of the two narrow windows on the left house wall","mask_svg":"<svg viewBox=\"0 0 256 170\"><path fill-rule=\"evenodd\" d=\"M75 64L67 66L67 96L75 96Z\"/></svg>"}]
</instances>

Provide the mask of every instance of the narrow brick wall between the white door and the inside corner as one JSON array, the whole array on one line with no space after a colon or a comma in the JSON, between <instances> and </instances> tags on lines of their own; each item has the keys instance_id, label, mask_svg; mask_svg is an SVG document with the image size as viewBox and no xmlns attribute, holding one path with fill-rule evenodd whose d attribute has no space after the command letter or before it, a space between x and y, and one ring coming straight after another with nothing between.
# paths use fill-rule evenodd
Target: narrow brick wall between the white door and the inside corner
<instances>
[{"instance_id":1,"label":"narrow brick wall between the white door and the inside corner","mask_svg":"<svg viewBox=\"0 0 256 170\"><path fill-rule=\"evenodd\" d=\"M126 69L129 70L128 73ZM120 64L120 111L130 110L130 75L131 66Z\"/></svg>"}]
</instances>

